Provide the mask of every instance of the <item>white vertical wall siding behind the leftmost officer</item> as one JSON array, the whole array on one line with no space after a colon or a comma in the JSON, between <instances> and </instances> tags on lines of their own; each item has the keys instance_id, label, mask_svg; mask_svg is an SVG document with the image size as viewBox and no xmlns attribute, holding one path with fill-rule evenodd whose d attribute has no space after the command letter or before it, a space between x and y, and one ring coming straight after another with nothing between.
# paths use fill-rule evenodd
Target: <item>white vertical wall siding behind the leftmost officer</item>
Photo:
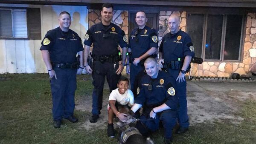
<instances>
[{"instance_id":1,"label":"white vertical wall siding behind the leftmost officer","mask_svg":"<svg viewBox=\"0 0 256 144\"><path fill-rule=\"evenodd\" d=\"M86 6L14 5L0 4L3 7L31 7L41 9L41 37L50 29L58 27L58 14L67 11L71 14L70 29L84 40L88 29ZM0 73L47 73L42 59L42 40L0 40Z\"/></svg>"}]
</instances>

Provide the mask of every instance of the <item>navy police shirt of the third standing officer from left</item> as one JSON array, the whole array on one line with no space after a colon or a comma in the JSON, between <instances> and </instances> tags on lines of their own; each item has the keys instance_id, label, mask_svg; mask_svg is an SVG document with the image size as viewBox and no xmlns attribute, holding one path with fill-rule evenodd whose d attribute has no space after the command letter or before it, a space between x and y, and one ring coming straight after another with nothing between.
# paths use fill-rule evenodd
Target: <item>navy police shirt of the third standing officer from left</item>
<instances>
[{"instance_id":1,"label":"navy police shirt of the third standing officer from left","mask_svg":"<svg viewBox=\"0 0 256 144\"><path fill-rule=\"evenodd\" d=\"M158 47L156 30L145 26L143 29L133 29L129 37L129 47L131 48L132 58L139 58L151 47Z\"/></svg>"}]
</instances>

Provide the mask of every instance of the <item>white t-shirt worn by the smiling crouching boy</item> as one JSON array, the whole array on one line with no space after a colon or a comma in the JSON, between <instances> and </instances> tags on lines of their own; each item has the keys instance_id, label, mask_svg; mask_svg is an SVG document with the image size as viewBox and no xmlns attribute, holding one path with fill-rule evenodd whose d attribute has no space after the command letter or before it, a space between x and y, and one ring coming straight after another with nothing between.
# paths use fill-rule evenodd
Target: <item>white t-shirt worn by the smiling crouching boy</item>
<instances>
[{"instance_id":1,"label":"white t-shirt worn by the smiling crouching boy","mask_svg":"<svg viewBox=\"0 0 256 144\"><path fill-rule=\"evenodd\" d=\"M108 101L115 100L121 105L134 105L134 95L130 89L127 89L124 94L120 94L118 88L114 89L108 98Z\"/></svg>"}]
</instances>

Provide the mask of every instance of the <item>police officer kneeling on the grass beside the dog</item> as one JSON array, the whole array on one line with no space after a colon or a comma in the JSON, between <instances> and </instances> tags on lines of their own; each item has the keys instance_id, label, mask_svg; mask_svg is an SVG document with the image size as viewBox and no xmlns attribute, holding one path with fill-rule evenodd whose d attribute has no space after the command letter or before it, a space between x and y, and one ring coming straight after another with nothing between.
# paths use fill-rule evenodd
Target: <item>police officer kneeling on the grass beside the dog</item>
<instances>
[{"instance_id":1,"label":"police officer kneeling on the grass beside the dog","mask_svg":"<svg viewBox=\"0 0 256 144\"><path fill-rule=\"evenodd\" d=\"M147 58L144 66L147 75L141 80L142 86L135 98L134 106L131 107L131 113L136 112L144 104L137 129L146 135L148 132L156 131L161 121L166 144L169 144L172 142L172 129L177 120L176 82L168 73L159 71L157 60L154 58Z\"/></svg>"}]
</instances>

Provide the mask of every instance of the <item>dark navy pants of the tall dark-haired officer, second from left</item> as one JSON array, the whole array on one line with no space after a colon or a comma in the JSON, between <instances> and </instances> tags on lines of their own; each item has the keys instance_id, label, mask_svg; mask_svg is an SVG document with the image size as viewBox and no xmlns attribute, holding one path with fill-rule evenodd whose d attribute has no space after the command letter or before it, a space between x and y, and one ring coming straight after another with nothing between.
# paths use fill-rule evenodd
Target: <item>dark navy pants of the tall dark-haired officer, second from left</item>
<instances>
[{"instance_id":1,"label":"dark navy pants of the tall dark-haired officer, second from left","mask_svg":"<svg viewBox=\"0 0 256 144\"><path fill-rule=\"evenodd\" d=\"M114 66L115 64L115 66ZM116 70L118 69L118 62L100 62L93 61L93 115L99 115L102 109L102 96L103 87L105 83L105 76L107 76L109 93L117 88L117 82L121 75L116 75Z\"/></svg>"}]
</instances>

